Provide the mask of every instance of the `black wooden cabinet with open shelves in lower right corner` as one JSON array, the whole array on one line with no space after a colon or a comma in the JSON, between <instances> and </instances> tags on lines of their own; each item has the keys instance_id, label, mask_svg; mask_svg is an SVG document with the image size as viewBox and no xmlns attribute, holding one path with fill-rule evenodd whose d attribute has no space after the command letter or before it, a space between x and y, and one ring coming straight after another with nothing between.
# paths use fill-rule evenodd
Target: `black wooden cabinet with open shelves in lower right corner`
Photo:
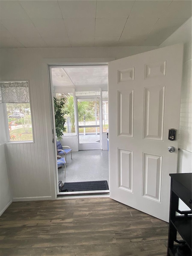
<instances>
[{"instance_id":1,"label":"black wooden cabinet with open shelves in lower right corner","mask_svg":"<svg viewBox=\"0 0 192 256\"><path fill-rule=\"evenodd\" d=\"M191 255L191 210L180 211L179 198L191 209L192 173L175 173L171 176L170 219L167 255ZM181 215L177 215L180 213ZM182 240L177 240L179 232ZM182 250L188 254L182 254Z\"/></svg>"}]
</instances>

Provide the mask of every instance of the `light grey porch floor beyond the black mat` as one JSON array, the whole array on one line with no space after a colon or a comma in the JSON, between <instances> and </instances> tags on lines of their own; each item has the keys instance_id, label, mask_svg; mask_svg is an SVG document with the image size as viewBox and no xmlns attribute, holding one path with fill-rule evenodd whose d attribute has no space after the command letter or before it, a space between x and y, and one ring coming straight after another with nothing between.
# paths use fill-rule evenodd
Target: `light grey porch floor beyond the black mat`
<instances>
[{"instance_id":1,"label":"light grey porch floor beyond the black mat","mask_svg":"<svg viewBox=\"0 0 192 256\"><path fill-rule=\"evenodd\" d=\"M107 180L109 185L109 152L107 150L80 150L67 155L66 178L61 168L58 180L64 182L81 182Z\"/></svg>"}]
</instances>

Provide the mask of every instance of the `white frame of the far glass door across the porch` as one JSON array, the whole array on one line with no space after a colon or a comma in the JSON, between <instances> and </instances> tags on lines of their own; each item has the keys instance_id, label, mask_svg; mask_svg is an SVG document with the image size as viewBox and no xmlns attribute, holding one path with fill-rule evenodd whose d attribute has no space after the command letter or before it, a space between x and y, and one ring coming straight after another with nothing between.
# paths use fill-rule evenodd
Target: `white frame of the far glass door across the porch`
<instances>
[{"instance_id":1,"label":"white frame of the far glass door across the porch","mask_svg":"<svg viewBox=\"0 0 192 256\"><path fill-rule=\"evenodd\" d=\"M100 93L102 92L102 89L99 88ZM90 91L91 92L91 91ZM86 127L99 127L100 132L99 132L99 136L100 136L100 143L97 143L98 148L96 149L102 149L102 136L101 136L101 95L95 95L95 96L76 96L76 110L77 110L77 136L78 136L78 149L79 150L88 150L88 149L92 149L91 146L96 146L96 143L79 143L79 118L78 118L78 99L98 99L99 100L99 125L81 125L80 128L86 128ZM83 145L82 145L83 144ZM85 145L84 144L88 144ZM95 145L94 145L95 144ZM87 146L87 147L86 147ZM93 148L94 149L94 148Z\"/></svg>"}]
</instances>

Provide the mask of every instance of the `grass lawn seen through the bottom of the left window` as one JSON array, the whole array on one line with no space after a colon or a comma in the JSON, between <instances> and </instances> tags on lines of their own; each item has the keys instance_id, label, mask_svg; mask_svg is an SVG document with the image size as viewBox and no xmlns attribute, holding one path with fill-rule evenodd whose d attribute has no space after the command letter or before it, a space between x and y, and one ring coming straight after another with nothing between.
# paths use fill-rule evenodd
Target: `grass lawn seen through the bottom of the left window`
<instances>
[{"instance_id":1,"label":"grass lawn seen through the bottom of the left window","mask_svg":"<svg viewBox=\"0 0 192 256\"><path fill-rule=\"evenodd\" d=\"M13 129L9 131L10 137L12 137L11 141L23 141L23 140L33 140L32 136L32 128L29 128L29 133L25 133L23 128Z\"/></svg>"}]
</instances>

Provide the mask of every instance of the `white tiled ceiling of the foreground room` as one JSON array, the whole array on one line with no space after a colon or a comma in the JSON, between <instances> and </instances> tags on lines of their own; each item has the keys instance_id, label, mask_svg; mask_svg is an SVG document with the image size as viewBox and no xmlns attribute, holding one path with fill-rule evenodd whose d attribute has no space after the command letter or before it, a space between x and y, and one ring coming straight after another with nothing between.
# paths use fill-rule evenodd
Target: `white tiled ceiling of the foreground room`
<instances>
[{"instance_id":1,"label":"white tiled ceiling of the foreground room","mask_svg":"<svg viewBox=\"0 0 192 256\"><path fill-rule=\"evenodd\" d=\"M158 46L191 0L0 1L0 47Z\"/></svg>"}]
</instances>

